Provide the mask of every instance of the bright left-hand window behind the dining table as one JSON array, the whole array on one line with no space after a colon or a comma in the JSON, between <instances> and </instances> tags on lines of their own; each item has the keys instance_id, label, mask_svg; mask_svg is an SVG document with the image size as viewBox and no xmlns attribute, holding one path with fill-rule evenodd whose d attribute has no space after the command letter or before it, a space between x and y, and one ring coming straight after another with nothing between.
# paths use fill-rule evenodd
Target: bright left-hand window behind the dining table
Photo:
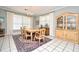
<instances>
[{"instance_id":1,"label":"bright left-hand window behind the dining table","mask_svg":"<svg viewBox=\"0 0 79 59\"><path fill-rule=\"evenodd\" d=\"M19 30L22 26L31 27L31 17L14 15L13 18L13 30Z\"/></svg>"}]
</instances>

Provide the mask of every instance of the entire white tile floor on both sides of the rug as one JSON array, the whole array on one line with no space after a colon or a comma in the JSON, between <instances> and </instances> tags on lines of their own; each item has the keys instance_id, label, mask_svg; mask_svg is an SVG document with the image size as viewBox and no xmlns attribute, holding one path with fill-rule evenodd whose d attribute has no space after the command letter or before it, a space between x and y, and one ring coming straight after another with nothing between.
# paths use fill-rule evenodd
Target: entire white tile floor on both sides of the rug
<instances>
[{"instance_id":1,"label":"entire white tile floor on both sides of the rug","mask_svg":"<svg viewBox=\"0 0 79 59\"><path fill-rule=\"evenodd\" d=\"M51 37L52 41L38 47L32 52L79 52L79 45ZM1 52L17 52L11 35L0 37Z\"/></svg>"}]
</instances>

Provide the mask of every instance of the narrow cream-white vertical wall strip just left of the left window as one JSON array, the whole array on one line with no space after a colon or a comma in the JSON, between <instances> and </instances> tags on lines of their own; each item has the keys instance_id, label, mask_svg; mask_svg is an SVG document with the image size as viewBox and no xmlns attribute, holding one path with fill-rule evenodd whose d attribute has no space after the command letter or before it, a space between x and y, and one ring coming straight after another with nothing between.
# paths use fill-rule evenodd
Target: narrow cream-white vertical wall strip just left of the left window
<instances>
[{"instance_id":1,"label":"narrow cream-white vertical wall strip just left of the left window","mask_svg":"<svg viewBox=\"0 0 79 59\"><path fill-rule=\"evenodd\" d=\"M13 15L14 13L7 12L7 34L11 35L13 32Z\"/></svg>"}]
</instances>

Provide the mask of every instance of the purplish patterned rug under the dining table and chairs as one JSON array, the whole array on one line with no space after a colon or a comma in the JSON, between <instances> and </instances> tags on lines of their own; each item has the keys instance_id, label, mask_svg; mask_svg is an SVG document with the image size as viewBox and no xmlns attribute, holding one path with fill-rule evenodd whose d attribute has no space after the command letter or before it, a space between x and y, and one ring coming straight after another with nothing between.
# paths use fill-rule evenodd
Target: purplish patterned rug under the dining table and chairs
<instances>
[{"instance_id":1,"label":"purplish patterned rug under the dining table and chairs","mask_svg":"<svg viewBox=\"0 0 79 59\"><path fill-rule=\"evenodd\" d=\"M16 45L18 52L31 52L36 48L42 46L43 44L51 41L51 39L45 38L44 41L41 41L40 45L38 41L31 41L22 39L20 35L13 35L13 39Z\"/></svg>"}]
</instances>

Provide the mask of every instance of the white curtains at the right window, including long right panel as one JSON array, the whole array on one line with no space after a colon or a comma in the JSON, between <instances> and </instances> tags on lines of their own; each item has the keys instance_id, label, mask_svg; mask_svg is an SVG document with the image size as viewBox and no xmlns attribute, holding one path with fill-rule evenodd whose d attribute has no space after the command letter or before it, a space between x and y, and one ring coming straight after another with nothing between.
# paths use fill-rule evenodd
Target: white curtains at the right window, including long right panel
<instances>
[{"instance_id":1,"label":"white curtains at the right window, including long right panel","mask_svg":"<svg viewBox=\"0 0 79 59\"><path fill-rule=\"evenodd\" d=\"M50 36L55 36L55 20L54 20L54 13L50 13L47 15L40 16L39 19L39 26L43 25L45 27L46 24L48 24L48 27L50 29Z\"/></svg>"}]
</instances>

